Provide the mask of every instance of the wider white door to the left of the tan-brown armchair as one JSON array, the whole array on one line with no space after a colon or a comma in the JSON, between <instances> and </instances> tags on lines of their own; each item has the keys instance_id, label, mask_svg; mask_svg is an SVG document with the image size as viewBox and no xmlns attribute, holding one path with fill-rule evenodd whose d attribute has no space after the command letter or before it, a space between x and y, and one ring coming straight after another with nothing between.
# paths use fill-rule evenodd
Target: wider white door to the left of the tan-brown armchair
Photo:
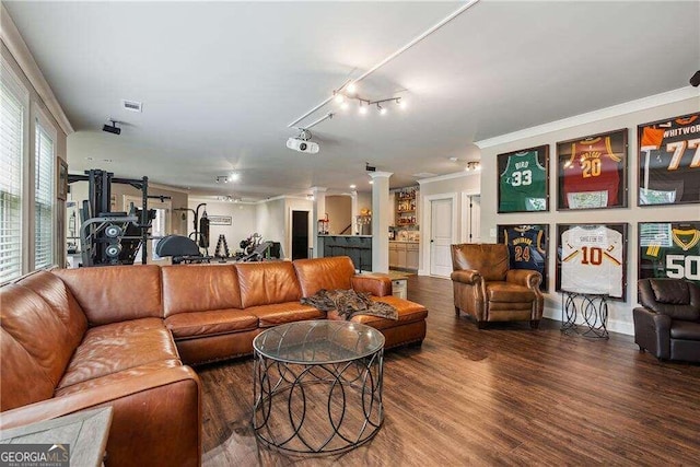
<instances>
[{"instance_id":1,"label":"wider white door to the left of the tan-brown armchair","mask_svg":"<svg viewBox=\"0 0 700 467\"><path fill-rule=\"evenodd\" d=\"M452 272L453 243L453 202L452 198L430 201L430 275L450 277Z\"/></svg>"}]
</instances>

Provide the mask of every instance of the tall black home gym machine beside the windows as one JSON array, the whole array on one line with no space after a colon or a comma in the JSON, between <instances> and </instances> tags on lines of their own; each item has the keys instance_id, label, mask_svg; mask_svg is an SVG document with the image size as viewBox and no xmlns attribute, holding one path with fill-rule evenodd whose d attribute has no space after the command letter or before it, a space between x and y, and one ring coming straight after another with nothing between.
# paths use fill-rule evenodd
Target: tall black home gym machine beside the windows
<instances>
[{"instance_id":1,"label":"tall black home gym machine beside the windows","mask_svg":"<svg viewBox=\"0 0 700 467\"><path fill-rule=\"evenodd\" d=\"M102 170L85 171L85 175L69 174L68 183L88 182L88 199L81 209L80 242L82 265L132 265L141 248L145 265L149 230L155 212L148 209L149 178L117 178ZM141 191L142 206L131 206L129 212L112 212L112 184L125 184Z\"/></svg>"}]
</instances>

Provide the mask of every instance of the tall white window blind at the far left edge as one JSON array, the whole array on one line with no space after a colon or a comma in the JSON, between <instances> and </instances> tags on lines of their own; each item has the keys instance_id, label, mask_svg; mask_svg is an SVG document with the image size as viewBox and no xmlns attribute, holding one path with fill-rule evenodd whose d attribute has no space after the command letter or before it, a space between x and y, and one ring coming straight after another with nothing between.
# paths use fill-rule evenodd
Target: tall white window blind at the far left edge
<instances>
[{"instance_id":1,"label":"tall white window blind at the far left edge","mask_svg":"<svg viewBox=\"0 0 700 467\"><path fill-rule=\"evenodd\" d=\"M24 106L0 81L0 283L22 275Z\"/></svg>"}]
</instances>

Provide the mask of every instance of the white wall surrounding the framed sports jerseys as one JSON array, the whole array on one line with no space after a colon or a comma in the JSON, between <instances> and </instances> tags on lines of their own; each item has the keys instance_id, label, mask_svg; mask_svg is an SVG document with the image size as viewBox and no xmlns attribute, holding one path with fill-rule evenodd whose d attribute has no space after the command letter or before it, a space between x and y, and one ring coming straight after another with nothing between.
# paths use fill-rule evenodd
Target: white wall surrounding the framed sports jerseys
<instances>
[{"instance_id":1,"label":"white wall surrounding the framed sports jerseys","mask_svg":"<svg viewBox=\"0 0 700 467\"><path fill-rule=\"evenodd\" d=\"M555 291L556 283L556 224L558 223L620 223L628 222L628 264L627 267L627 295L626 302L611 302L608 305L609 317L608 328L614 331L633 334L632 307L637 304L637 268L638 268L638 222L648 221L698 221L700 220L700 205L664 206L657 208L640 208L637 206L638 192L638 156L637 156L637 126L640 124L658 120L662 118L698 112L700 108L700 97L687 98L688 93L681 94L686 98L679 102L677 94L667 93L663 97L652 96L648 100L628 103L627 105L615 106L599 113L586 114L562 121L560 129L556 129L556 122L549 124L546 132L532 129L532 136L526 136L528 130L518 131L520 138L513 138L508 142L489 145L486 142L481 150L481 238L485 243L494 243L497 224L513 223L540 223L549 224L549 293L545 301L545 316L561 319L561 294ZM672 102L658 105L658 100ZM655 105L651 108L650 105ZM596 115L599 117L596 118ZM585 121L585 122L582 122ZM628 128L628 208L603 209L588 211L562 211L557 209L557 141L564 141L574 138L585 137L620 128ZM506 137L501 139L508 140ZM493 139L498 141L498 138ZM549 144L549 212L534 213L497 213L497 190L498 170L497 154L532 148L540 144Z\"/></svg>"}]
</instances>

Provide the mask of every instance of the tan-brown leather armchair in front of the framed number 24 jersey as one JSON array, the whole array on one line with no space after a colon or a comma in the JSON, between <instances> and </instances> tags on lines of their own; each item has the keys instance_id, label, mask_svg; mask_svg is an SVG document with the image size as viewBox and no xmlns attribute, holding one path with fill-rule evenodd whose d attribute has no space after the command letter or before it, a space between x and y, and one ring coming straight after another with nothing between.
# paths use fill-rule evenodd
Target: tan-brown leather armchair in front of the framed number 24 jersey
<instances>
[{"instance_id":1,"label":"tan-brown leather armchair in front of the framed number 24 jersey","mask_svg":"<svg viewBox=\"0 0 700 467\"><path fill-rule=\"evenodd\" d=\"M529 320L542 317L542 277L537 271L509 269L505 244L452 245L451 276L455 313L471 315L479 329L489 322Z\"/></svg>"}]
</instances>

